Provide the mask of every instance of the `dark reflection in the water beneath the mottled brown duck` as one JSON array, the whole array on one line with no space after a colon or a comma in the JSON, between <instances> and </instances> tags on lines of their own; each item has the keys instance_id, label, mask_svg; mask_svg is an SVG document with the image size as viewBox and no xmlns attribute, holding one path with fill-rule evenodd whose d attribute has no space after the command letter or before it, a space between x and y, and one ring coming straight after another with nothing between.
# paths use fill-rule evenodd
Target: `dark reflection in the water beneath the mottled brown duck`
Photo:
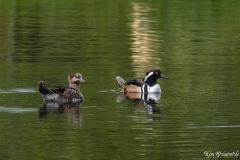
<instances>
[{"instance_id":1,"label":"dark reflection in the water beneath the mottled brown duck","mask_svg":"<svg viewBox=\"0 0 240 160\"><path fill-rule=\"evenodd\" d=\"M47 118L49 114L63 114L67 112L69 121L71 121L74 125L81 124L81 114L80 114L80 106L82 103L60 103L60 102L47 102L44 101L42 107L39 109L39 119L43 120Z\"/></svg>"}]
</instances>

